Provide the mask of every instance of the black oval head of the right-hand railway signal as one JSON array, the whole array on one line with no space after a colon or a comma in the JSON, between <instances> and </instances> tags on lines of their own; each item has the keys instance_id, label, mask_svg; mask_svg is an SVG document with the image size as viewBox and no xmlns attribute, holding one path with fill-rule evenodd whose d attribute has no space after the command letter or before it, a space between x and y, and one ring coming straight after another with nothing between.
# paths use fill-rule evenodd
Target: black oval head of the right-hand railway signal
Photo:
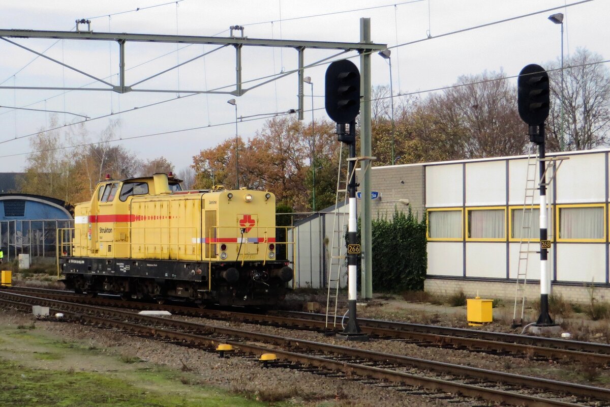
<instances>
[{"instance_id":1,"label":"black oval head of the right-hand railway signal","mask_svg":"<svg viewBox=\"0 0 610 407\"><path fill-rule=\"evenodd\" d=\"M535 63L527 65L517 79L519 115L529 126L543 124L550 108L548 74Z\"/></svg>"}]
</instances>

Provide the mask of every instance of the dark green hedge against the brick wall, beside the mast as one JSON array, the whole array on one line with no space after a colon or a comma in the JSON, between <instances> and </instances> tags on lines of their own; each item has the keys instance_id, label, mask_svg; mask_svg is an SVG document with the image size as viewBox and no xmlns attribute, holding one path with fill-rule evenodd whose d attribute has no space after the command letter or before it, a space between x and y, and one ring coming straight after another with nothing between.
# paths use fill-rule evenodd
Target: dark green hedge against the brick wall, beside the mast
<instances>
[{"instance_id":1,"label":"dark green hedge against the brick wall, beside the mast","mask_svg":"<svg viewBox=\"0 0 610 407\"><path fill-rule=\"evenodd\" d=\"M423 290L428 265L426 252L426 218L421 222L411 206L405 215L394 209L392 220L379 218L372 222L373 290L404 292ZM358 222L358 240L361 225ZM360 277L361 273L358 273Z\"/></svg>"}]
</instances>

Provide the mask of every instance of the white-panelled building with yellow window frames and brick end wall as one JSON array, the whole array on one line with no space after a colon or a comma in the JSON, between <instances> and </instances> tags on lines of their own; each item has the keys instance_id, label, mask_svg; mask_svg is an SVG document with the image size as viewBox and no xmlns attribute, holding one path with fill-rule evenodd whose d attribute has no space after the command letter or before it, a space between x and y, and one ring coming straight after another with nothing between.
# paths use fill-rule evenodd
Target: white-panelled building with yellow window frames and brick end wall
<instances>
[{"instance_id":1,"label":"white-panelled building with yellow window frames and brick end wall","mask_svg":"<svg viewBox=\"0 0 610 407\"><path fill-rule=\"evenodd\" d=\"M562 153L567 159L547 190L551 283L554 292L567 299L589 300L590 287L595 287L597 298L610 295L609 154L608 149ZM467 295L478 290L481 295L514 298L527 167L527 156L373 167L372 189L382 196L373 201L373 215L391 215L394 207L404 211L404 199L420 215L426 211L426 290L463 290ZM537 205L537 192L533 199ZM536 209L530 250L539 250L538 216ZM299 226L303 231L306 223ZM328 226L326 231L330 236ZM323 234L316 236L324 239ZM299 252L311 250L303 246L307 237L301 232L299 237ZM304 273L309 273L307 281L317 287L320 279L314 275L324 274L321 264L304 261L297 267L296 284L303 286ZM528 298L539 293L539 264L539 255L531 254Z\"/></svg>"}]
</instances>

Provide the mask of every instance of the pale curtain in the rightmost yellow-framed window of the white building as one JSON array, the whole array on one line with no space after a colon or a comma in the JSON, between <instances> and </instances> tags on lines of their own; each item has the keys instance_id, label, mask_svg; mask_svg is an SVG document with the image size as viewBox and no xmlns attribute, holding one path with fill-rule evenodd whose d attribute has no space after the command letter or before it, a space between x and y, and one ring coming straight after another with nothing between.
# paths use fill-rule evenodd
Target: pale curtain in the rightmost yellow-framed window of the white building
<instances>
[{"instance_id":1,"label":"pale curtain in the rightmost yellow-framed window of the white building","mask_svg":"<svg viewBox=\"0 0 610 407\"><path fill-rule=\"evenodd\" d=\"M603 239L603 207L559 208L560 239Z\"/></svg>"}]
</instances>

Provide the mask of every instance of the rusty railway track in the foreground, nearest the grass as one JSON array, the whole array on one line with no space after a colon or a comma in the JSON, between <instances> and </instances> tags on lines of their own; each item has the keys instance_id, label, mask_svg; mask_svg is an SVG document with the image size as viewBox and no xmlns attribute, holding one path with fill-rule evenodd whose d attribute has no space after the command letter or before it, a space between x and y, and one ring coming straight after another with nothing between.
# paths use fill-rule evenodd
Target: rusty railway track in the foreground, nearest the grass
<instances>
[{"instance_id":1,"label":"rusty railway track in the foreground, nearest the grass","mask_svg":"<svg viewBox=\"0 0 610 407\"><path fill-rule=\"evenodd\" d=\"M304 369L337 378L391 387L427 397L462 396L496 403L528 406L610 406L610 390L581 384L478 369L407 356L390 355L308 340L255 333L182 320L151 317L119 309L67 303L0 290L3 306L29 311L32 304L49 306L68 319L93 326L110 326L126 333L213 349L230 344L239 355L274 353L278 366ZM261 345L264 344L264 345Z\"/></svg>"}]
</instances>

